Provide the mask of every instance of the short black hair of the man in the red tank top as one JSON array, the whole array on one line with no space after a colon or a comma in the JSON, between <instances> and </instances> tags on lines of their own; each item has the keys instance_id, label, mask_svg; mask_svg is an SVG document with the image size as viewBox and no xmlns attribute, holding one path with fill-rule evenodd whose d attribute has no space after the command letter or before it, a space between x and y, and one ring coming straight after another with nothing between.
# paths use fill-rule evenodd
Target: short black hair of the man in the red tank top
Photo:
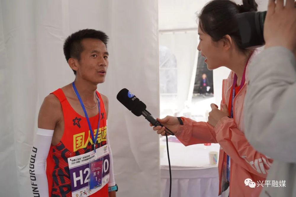
<instances>
[{"instance_id":1,"label":"short black hair of the man in the red tank top","mask_svg":"<svg viewBox=\"0 0 296 197\"><path fill-rule=\"evenodd\" d=\"M72 33L70 36L67 37L67 39L64 42L64 55L66 57L66 60L70 58L76 58L80 60L80 54L83 51L83 46L81 44L81 41L86 38L93 38L101 40L107 48L107 43L109 40L109 37L106 33L103 31L98 31L95 29L82 29L75 33ZM74 74L76 75L76 71L74 71Z\"/></svg>"}]
</instances>

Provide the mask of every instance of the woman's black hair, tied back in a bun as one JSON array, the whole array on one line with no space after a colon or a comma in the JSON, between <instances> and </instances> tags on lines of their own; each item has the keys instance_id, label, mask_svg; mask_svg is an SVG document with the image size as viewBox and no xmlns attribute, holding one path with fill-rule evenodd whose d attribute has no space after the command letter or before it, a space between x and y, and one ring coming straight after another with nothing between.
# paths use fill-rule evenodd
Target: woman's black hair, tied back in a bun
<instances>
[{"instance_id":1,"label":"woman's black hair, tied back in a bun","mask_svg":"<svg viewBox=\"0 0 296 197\"><path fill-rule=\"evenodd\" d=\"M258 4L255 0L243 0L238 5L230 0L213 0L202 9L199 18L199 26L203 32L211 36L213 41L219 41L225 35L231 36L242 52L249 52L242 47L242 39L236 15L243 12L257 11Z\"/></svg>"}]
</instances>

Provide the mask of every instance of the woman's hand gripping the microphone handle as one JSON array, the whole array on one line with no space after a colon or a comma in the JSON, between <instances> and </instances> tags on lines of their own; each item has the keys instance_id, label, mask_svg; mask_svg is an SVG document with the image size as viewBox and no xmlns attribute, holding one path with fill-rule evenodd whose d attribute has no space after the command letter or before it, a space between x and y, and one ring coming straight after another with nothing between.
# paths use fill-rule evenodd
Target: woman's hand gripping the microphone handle
<instances>
[{"instance_id":1,"label":"woman's hand gripping the microphone handle","mask_svg":"<svg viewBox=\"0 0 296 197\"><path fill-rule=\"evenodd\" d=\"M171 132L173 132L173 134L175 134L180 126L180 122L178 120L177 117L174 116L166 116L163 119L160 118L156 118L163 126L155 126L153 127L154 131L157 131L157 134L161 134L162 136L165 136L165 128L170 129ZM150 123L150 126L153 126ZM167 133L167 135L169 135Z\"/></svg>"}]
</instances>

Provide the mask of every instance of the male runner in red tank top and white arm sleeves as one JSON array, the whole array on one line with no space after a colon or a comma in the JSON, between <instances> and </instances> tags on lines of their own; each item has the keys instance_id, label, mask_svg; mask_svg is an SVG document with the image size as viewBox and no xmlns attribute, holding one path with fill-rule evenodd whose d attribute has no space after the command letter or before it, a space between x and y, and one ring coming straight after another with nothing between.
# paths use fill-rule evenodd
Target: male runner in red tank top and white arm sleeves
<instances>
[{"instance_id":1,"label":"male runner in red tank top and white arm sleeves","mask_svg":"<svg viewBox=\"0 0 296 197\"><path fill-rule=\"evenodd\" d=\"M93 29L65 40L64 54L75 80L41 105L30 158L33 196L116 196L108 98L96 91L107 73L107 41L104 32Z\"/></svg>"}]
</instances>

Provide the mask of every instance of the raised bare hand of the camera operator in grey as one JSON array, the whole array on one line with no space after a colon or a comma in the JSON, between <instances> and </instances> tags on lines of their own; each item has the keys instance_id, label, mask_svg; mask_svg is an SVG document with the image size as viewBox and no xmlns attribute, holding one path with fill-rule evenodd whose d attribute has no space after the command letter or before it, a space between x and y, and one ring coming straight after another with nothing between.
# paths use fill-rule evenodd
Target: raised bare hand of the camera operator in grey
<instances>
[{"instance_id":1,"label":"raised bare hand of the camera operator in grey","mask_svg":"<svg viewBox=\"0 0 296 197\"><path fill-rule=\"evenodd\" d=\"M282 46L296 55L295 0L269 0L264 22L265 48Z\"/></svg>"}]
</instances>

